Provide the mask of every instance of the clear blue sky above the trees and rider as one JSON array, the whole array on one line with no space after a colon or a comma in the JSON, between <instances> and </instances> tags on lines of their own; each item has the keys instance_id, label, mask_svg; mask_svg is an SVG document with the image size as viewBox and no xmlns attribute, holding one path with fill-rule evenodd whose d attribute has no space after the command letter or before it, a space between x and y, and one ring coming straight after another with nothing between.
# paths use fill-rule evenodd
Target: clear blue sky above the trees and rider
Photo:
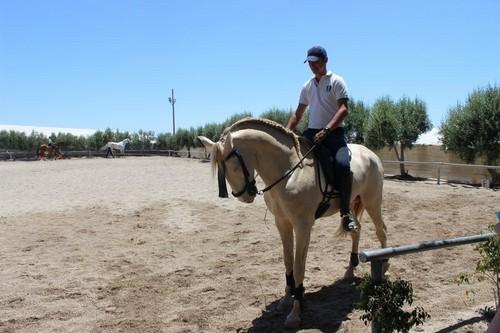
<instances>
[{"instance_id":1,"label":"clear blue sky above the trees and rider","mask_svg":"<svg viewBox=\"0 0 500 333\"><path fill-rule=\"evenodd\" d=\"M500 84L500 1L0 0L0 124L155 132L295 108L323 45L356 100L435 126Z\"/></svg>"}]
</instances>

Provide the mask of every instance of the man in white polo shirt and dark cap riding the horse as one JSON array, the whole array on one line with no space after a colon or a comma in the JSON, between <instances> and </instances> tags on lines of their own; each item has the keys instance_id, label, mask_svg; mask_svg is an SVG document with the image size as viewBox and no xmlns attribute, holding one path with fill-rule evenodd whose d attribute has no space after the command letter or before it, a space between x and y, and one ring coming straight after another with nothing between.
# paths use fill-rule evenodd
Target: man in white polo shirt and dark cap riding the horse
<instances>
[{"instance_id":1,"label":"man in white polo shirt and dark cap riding the horse","mask_svg":"<svg viewBox=\"0 0 500 333\"><path fill-rule=\"evenodd\" d=\"M308 80L300 93L299 105L288 120L287 128L293 130L309 106L308 129L303 135L320 146L317 149L324 167L330 190L340 193L340 216L345 231L354 231L356 223L350 211L352 172L350 152L344 135L344 119L348 114L348 91L344 79L327 71L328 56L321 46L307 52L309 68L314 77ZM326 149L325 149L326 148ZM326 150L326 156L325 155ZM333 158L334 165L328 163ZM326 163L324 161L327 161ZM330 206L325 199L317 211L321 217Z\"/></svg>"}]
</instances>

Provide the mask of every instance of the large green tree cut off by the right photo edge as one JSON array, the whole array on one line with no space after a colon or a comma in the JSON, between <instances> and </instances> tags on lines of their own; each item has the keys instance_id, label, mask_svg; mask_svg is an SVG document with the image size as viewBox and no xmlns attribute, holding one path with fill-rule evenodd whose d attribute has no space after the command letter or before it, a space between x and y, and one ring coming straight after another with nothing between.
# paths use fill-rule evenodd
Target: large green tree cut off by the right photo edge
<instances>
[{"instance_id":1,"label":"large green tree cut off by the right photo edge","mask_svg":"<svg viewBox=\"0 0 500 333\"><path fill-rule=\"evenodd\" d=\"M481 158L488 165L500 163L500 87L475 90L463 105L448 112L440 133L445 148L472 163ZM492 186L500 184L500 172L488 169Z\"/></svg>"}]
</instances>

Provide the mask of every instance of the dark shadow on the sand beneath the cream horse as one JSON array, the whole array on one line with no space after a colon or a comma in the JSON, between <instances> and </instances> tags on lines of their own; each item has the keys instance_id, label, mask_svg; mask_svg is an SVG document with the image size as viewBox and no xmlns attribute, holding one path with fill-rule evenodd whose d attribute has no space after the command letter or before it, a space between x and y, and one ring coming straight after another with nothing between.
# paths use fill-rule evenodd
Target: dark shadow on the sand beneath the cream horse
<instances>
[{"instance_id":1,"label":"dark shadow on the sand beneath the cream horse","mask_svg":"<svg viewBox=\"0 0 500 333\"><path fill-rule=\"evenodd\" d=\"M337 332L342 322L349 319L354 304L359 299L356 286L360 279L338 280L330 286L321 288L304 296L305 304L300 329L316 329L321 332ZM294 332L283 326L288 311L279 312L279 300L266 306L259 318L252 321L247 332Z\"/></svg>"}]
</instances>

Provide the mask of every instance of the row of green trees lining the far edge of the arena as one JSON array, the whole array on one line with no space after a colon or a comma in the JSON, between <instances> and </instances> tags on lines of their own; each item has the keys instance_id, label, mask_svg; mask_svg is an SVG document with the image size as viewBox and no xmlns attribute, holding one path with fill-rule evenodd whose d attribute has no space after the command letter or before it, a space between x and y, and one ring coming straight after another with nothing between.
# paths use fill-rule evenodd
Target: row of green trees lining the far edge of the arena
<instances>
[{"instance_id":1,"label":"row of green trees lining the far edge of the arena","mask_svg":"<svg viewBox=\"0 0 500 333\"><path fill-rule=\"evenodd\" d=\"M292 109L272 108L259 117L286 125ZM129 138L128 149L170 149L180 150L201 147L197 137L206 136L213 141L220 138L223 130L237 120L251 117L249 112L237 113L222 123L209 123L197 128L179 129L171 133L155 134L153 131L121 132L107 128L90 136L75 136L71 133L52 133L51 138L62 143L63 150L100 150L109 141ZM308 122L308 113L297 127L301 133ZM377 99L373 105L351 99L345 131L349 142L364 144L372 149L388 147L396 153L397 159L405 160L405 151L411 149L419 135L432 128L427 107L419 98L402 97L393 100L389 96ZM472 162L476 158L485 164L500 162L500 87L488 85L469 94L463 104L448 110L440 126L444 149L454 151L462 159ZM48 138L37 132L26 135L22 132L0 131L0 149L37 151ZM401 164L401 175L406 174ZM494 183L499 183L499 173L489 170Z\"/></svg>"}]
</instances>

